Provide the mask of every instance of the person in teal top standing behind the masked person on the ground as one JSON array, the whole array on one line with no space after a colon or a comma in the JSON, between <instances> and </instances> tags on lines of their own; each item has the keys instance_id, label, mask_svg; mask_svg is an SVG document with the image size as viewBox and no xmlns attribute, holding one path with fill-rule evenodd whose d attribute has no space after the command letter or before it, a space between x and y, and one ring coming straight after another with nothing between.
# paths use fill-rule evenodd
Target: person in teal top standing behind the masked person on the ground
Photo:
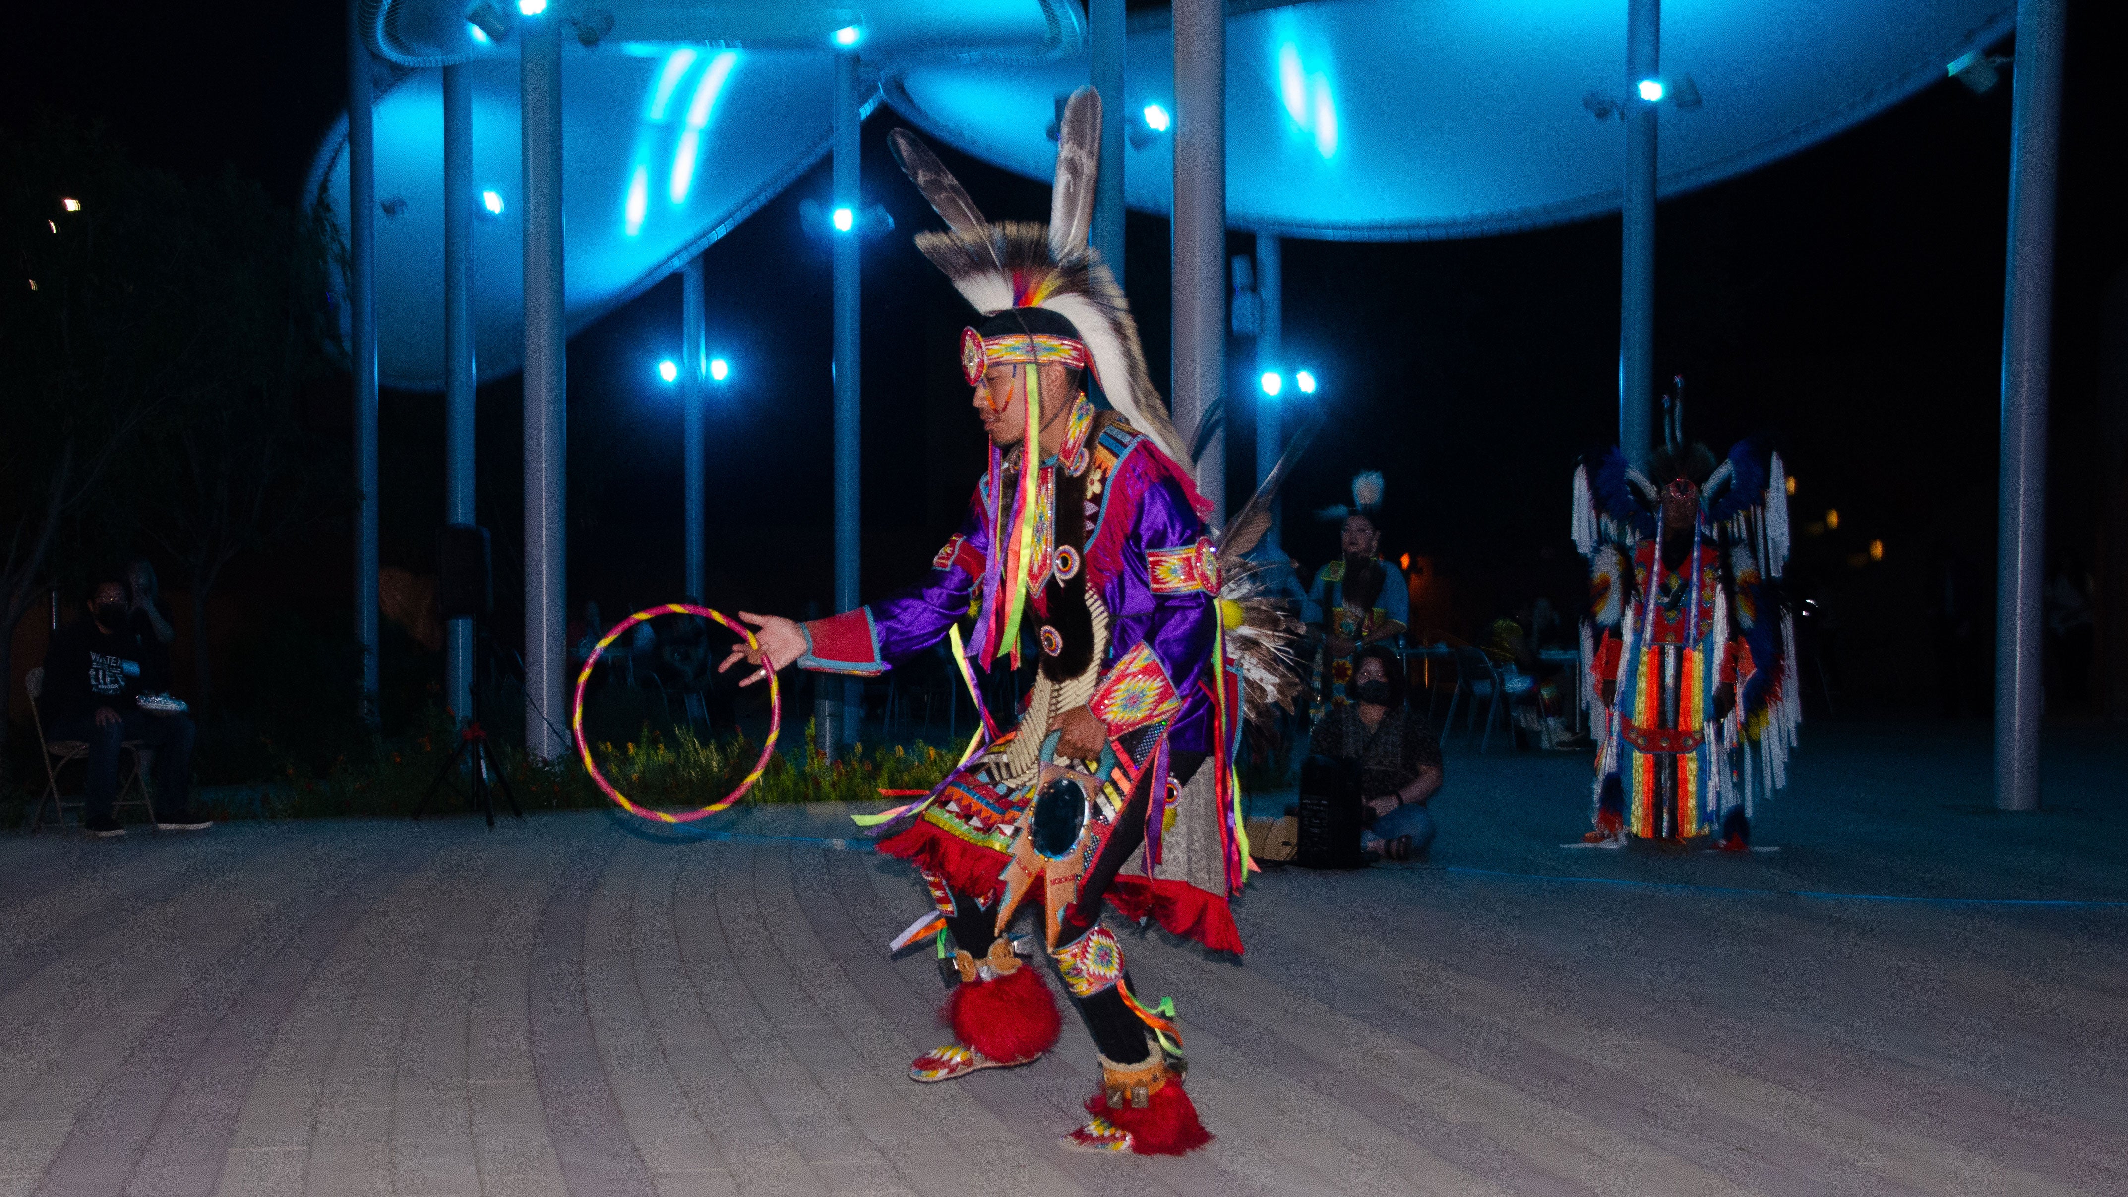
<instances>
[{"instance_id":1,"label":"person in teal top standing behind the masked person on the ground","mask_svg":"<svg viewBox=\"0 0 2128 1197\"><path fill-rule=\"evenodd\" d=\"M1353 655L1383 640L1396 640L1411 623L1411 587L1404 572L1381 559L1381 472L1351 478L1351 506L1315 512L1339 525L1339 559L1315 572L1304 614L1321 638L1315 659L1315 702L1311 719L1345 706Z\"/></svg>"}]
</instances>

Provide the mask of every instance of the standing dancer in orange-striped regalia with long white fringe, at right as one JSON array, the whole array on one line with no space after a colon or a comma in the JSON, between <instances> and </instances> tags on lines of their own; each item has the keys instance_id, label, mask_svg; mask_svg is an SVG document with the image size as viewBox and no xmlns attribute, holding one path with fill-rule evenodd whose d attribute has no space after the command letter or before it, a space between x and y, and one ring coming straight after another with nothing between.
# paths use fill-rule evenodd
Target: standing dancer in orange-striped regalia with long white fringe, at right
<instances>
[{"instance_id":1,"label":"standing dancer in orange-striped regalia with long white fringe, at right","mask_svg":"<svg viewBox=\"0 0 2128 1197\"><path fill-rule=\"evenodd\" d=\"M1598 723L1587 842L1719 829L1743 850L1756 799L1788 785L1802 723L1794 619L1777 593L1788 491L1777 453L1745 440L1715 463L1705 444L1683 446L1681 419L1679 404L1647 474L1617 449L1575 470L1575 546L1590 559L1583 702Z\"/></svg>"}]
</instances>

